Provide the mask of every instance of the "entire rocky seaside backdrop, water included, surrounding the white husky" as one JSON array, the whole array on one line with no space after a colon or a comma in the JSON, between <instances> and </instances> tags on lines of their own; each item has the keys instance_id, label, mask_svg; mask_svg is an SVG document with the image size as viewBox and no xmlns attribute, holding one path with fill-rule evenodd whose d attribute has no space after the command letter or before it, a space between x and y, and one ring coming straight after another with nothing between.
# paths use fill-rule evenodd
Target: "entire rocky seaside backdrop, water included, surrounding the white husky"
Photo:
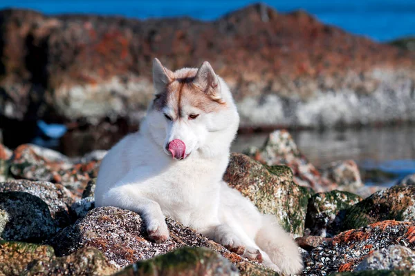
<instances>
[{"instance_id":1,"label":"entire rocky seaside backdrop, water included, surrounding the white husky","mask_svg":"<svg viewBox=\"0 0 415 276\"><path fill-rule=\"evenodd\" d=\"M224 179L296 238L303 275L414 275L412 2L1 1L1 273L275 275L168 217L154 244L136 213L94 208L158 57L229 84Z\"/></svg>"}]
</instances>

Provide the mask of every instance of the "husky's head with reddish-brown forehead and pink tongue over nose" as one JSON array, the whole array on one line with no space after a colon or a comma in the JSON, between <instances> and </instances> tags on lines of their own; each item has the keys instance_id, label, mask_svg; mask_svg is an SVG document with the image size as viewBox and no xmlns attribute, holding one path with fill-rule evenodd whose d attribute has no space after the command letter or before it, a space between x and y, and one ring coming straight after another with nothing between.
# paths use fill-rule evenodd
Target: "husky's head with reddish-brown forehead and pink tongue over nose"
<instances>
[{"instance_id":1,"label":"husky's head with reddish-brown forehead and pink tongue over nose","mask_svg":"<svg viewBox=\"0 0 415 276\"><path fill-rule=\"evenodd\" d=\"M239 116L228 87L208 61L172 72L154 59L153 77L156 96L147 124L167 155L180 160L193 152L212 156L229 149Z\"/></svg>"}]
</instances>

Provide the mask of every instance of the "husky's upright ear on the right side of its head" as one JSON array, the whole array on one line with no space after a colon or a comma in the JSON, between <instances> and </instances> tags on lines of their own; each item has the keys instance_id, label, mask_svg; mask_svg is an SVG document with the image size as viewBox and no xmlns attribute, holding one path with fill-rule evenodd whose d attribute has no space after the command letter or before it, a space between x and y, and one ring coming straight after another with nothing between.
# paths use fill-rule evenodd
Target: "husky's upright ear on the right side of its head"
<instances>
[{"instance_id":1,"label":"husky's upright ear on the right side of its head","mask_svg":"<svg viewBox=\"0 0 415 276\"><path fill-rule=\"evenodd\" d=\"M197 70L193 84L215 101L221 101L219 79L208 61L204 61L199 70Z\"/></svg>"}]
</instances>

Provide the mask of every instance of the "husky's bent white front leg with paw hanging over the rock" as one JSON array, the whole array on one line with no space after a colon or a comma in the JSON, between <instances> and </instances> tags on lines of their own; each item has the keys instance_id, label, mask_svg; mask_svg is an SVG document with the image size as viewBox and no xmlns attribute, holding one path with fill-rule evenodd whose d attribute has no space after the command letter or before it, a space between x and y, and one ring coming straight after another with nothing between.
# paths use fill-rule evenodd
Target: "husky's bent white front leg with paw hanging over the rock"
<instances>
[{"instance_id":1,"label":"husky's bent white front leg with paw hanging over the rock","mask_svg":"<svg viewBox=\"0 0 415 276\"><path fill-rule=\"evenodd\" d=\"M149 238L154 242L165 242L169 238L169 230L160 205L140 195L137 187L115 186L104 195L104 202L106 206L133 210L138 213L147 226Z\"/></svg>"}]
</instances>

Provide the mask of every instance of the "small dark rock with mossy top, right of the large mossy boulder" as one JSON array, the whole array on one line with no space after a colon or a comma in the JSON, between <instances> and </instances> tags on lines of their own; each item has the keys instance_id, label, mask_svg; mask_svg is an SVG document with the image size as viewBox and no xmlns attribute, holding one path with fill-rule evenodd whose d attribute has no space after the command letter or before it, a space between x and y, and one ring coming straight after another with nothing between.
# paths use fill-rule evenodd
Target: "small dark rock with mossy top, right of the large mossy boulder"
<instances>
[{"instance_id":1,"label":"small dark rock with mossy top, right of the large mossy boulder","mask_svg":"<svg viewBox=\"0 0 415 276\"><path fill-rule=\"evenodd\" d=\"M362 201L358 195L340 190L316 193L308 200L305 227L311 235L333 237L333 229L337 230L344 219L344 210Z\"/></svg>"}]
</instances>

